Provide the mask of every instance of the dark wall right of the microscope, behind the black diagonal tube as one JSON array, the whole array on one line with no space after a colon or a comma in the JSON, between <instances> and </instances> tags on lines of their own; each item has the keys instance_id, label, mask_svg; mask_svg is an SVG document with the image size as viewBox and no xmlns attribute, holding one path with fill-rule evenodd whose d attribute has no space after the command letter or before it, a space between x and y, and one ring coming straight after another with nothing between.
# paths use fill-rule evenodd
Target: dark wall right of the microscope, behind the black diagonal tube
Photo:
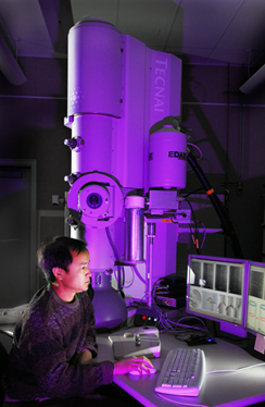
<instances>
[{"instance_id":1,"label":"dark wall right of the microscope, behind the black diagonal tube","mask_svg":"<svg viewBox=\"0 0 265 407\"><path fill-rule=\"evenodd\" d=\"M242 95L239 87L245 79L245 67L185 64L182 124L191 128L189 141L202 151L199 162L209 181L225 196L244 258L261 261L265 85ZM191 172L187 186L187 192L200 187ZM224 255L234 257L228 240Z\"/></svg>"}]
</instances>

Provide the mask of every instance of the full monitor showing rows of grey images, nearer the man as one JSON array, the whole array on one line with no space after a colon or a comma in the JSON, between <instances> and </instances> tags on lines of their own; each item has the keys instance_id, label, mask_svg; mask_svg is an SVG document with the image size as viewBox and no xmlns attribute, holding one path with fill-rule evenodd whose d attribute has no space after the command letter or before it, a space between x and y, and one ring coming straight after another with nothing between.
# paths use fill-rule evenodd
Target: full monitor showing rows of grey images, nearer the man
<instances>
[{"instance_id":1,"label":"full monitor showing rows of grey images, nearer the man","mask_svg":"<svg viewBox=\"0 0 265 407\"><path fill-rule=\"evenodd\" d=\"M248 261L189 255L187 312L219 322L222 331L247 336Z\"/></svg>"}]
</instances>

